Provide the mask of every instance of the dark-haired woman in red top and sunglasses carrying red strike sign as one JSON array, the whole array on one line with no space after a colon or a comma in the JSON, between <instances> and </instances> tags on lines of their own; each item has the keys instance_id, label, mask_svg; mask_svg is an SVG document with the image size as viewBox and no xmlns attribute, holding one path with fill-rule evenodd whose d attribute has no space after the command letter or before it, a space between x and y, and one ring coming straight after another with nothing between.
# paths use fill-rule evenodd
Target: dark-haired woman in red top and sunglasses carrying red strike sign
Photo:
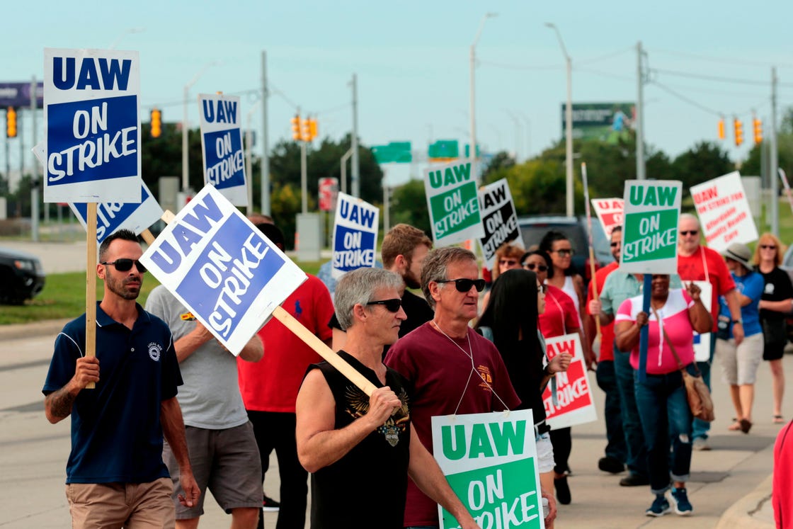
<instances>
[{"instance_id":1,"label":"dark-haired woman in red top and sunglasses carrying red strike sign","mask_svg":"<svg viewBox=\"0 0 793 529\"><path fill-rule=\"evenodd\" d=\"M584 345L584 335L578 311L573 304L573 299L561 289L550 284L549 279L554 274L553 262L544 251L527 251L520 260L523 268L537 274L540 284L546 287L545 310L540 312L538 318L539 329L545 338L554 338L565 334L578 333L581 344ZM573 449L573 439L570 428L558 428L550 431L550 440L554 445L554 486L560 504L567 505L572 501L567 475L570 472L568 459L570 450Z\"/></svg>"}]
</instances>

